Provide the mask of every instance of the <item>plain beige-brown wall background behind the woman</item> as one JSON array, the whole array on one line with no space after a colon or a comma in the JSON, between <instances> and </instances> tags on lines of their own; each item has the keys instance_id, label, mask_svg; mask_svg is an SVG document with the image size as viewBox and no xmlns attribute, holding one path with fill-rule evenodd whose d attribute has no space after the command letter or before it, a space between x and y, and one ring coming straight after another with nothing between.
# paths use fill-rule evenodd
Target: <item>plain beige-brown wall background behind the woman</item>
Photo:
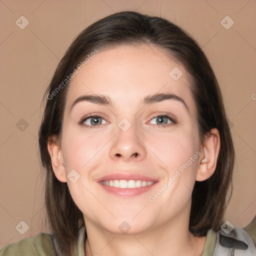
<instances>
[{"instance_id":1,"label":"plain beige-brown wall background behind the woman","mask_svg":"<svg viewBox=\"0 0 256 256\"><path fill-rule=\"evenodd\" d=\"M255 0L0 0L0 247L48 231L37 146L42 95L74 36L121 10L161 15L201 45L220 83L236 150L225 219L242 227L255 215ZM229 29L221 24L227 15L234 21ZM24 29L15 23L20 16L29 21ZM23 235L20 221L29 226Z\"/></svg>"}]
</instances>

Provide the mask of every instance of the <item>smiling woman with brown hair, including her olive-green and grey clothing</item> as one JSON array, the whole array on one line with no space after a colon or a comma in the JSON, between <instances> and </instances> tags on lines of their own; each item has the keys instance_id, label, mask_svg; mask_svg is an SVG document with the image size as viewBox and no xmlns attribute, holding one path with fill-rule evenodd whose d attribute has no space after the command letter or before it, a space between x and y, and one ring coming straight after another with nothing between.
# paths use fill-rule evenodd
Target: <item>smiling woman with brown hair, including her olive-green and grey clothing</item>
<instances>
[{"instance_id":1,"label":"smiling woman with brown hair, including her olive-green and grey clothing","mask_svg":"<svg viewBox=\"0 0 256 256\"><path fill-rule=\"evenodd\" d=\"M52 234L0 255L256 253L223 222L233 143L215 75L178 26L132 11L100 19L72 42L45 96Z\"/></svg>"}]
</instances>

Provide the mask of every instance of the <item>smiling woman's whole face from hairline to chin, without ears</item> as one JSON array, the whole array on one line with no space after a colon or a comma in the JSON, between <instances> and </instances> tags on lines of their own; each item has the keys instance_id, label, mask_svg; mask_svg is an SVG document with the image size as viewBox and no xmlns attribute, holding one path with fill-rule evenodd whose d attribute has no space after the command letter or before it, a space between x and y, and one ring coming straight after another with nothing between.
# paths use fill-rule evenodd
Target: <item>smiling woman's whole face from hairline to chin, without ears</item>
<instances>
[{"instance_id":1,"label":"smiling woman's whole face from hairline to chin, without ears","mask_svg":"<svg viewBox=\"0 0 256 256\"><path fill-rule=\"evenodd\" d=\"M161 93L168 98L155 96ZM67 178L61 181L86 226L139 233L169 221L186 224L199 150L187 72L163 50L108 48L72 78L61 136Z\"/></svg>"}]
</instances>

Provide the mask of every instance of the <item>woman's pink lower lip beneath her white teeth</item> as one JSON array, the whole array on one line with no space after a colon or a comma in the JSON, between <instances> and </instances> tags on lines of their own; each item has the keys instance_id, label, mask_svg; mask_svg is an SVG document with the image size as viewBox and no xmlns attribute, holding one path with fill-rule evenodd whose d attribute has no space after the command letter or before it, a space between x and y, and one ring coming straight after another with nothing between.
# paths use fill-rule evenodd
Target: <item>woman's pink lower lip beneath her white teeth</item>
<instances>
[{"instance_id":1,"label":"woman's pink lower lip beneath her white teeth","mask_svg":"<svg viewBox=\"0 0 256 256\"><path fill-rule=\"evenodd\" d=\"M120 187L114 187L114 186L107 186L103 185L101 182L98 182L107 192L122 196L122 197L132 197L135 195L140 195L142 193L145 193L152 189L158 181L154 182L153 184L149 186L141 186L141 187L135 187L135 188L120 188Z\"/></svg>"}]
</instances>

